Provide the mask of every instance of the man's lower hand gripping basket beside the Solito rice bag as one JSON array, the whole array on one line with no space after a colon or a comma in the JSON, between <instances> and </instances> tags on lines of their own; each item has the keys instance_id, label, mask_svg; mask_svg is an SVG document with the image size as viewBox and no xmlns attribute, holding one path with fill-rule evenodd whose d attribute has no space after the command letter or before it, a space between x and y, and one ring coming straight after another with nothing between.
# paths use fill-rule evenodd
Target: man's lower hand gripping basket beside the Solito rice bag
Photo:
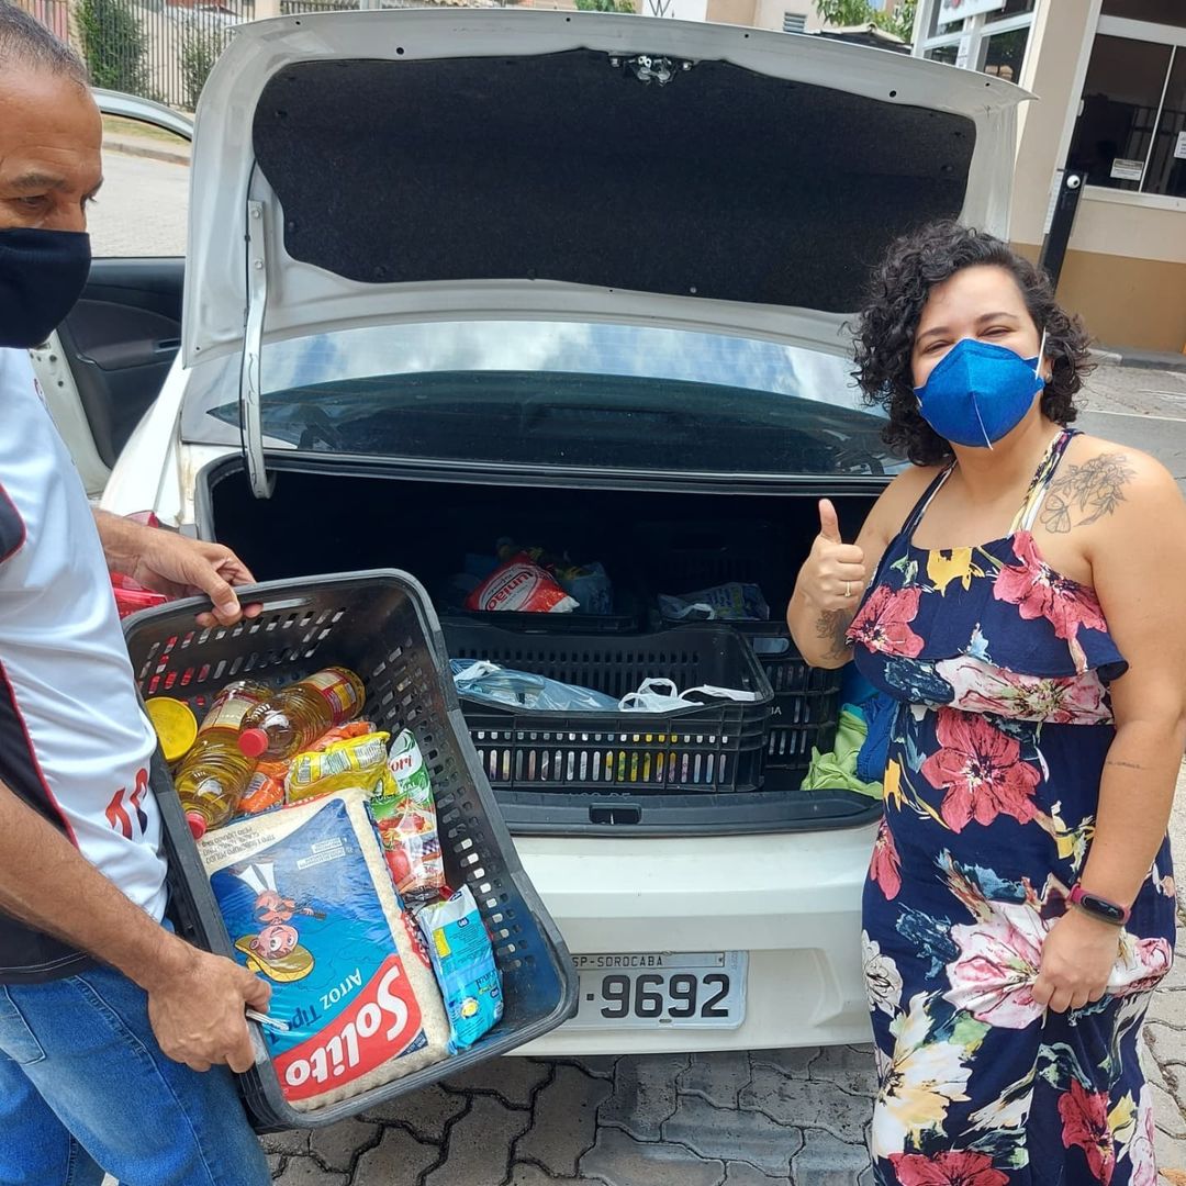
<instances>
[{"instance_id":1,"label":"man's lower hand gripping basket beside the Solito rice bag","mask_svg":"<svg viewBox=\"0 0 1186 1186\"><path fill-rule=\"evenodd\" d=\"M244 1009L267 1013L272 987L231 959L174 943L171 967L146 986L160 1048L195 1071L225 1063L242 1075L255 1064Z\"/></svg>"}]
</instances>

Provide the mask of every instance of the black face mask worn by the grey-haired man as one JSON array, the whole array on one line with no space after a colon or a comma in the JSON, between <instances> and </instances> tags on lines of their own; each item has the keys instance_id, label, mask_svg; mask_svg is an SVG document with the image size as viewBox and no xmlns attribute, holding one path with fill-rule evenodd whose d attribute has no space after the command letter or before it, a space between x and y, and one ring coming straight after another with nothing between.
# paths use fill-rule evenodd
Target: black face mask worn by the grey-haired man
<instances>
[{"instance_id":1,"label":"black face mask worn by the grey-haired man","mask_svg":"<svg viewBox=\"0 0 1186 1186\"><path fill-rule=\"evenodd\" d=\"M0 230L0 346L30 350L62 324L90 273L90 236L76 230Z\"/></svg>"}]
</instances>

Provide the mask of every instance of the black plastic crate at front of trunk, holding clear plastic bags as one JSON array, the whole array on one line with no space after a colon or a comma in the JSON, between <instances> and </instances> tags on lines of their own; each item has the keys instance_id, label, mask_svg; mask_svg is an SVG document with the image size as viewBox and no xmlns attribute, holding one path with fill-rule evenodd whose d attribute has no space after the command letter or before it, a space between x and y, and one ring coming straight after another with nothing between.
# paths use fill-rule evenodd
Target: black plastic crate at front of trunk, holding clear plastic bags
<instances>
[{"instance_id":1,"label":"black plastic crate at front of trunk, holding clear plastic bags","mask_svg":"<svg viewBox=\"0 0 1186 1186\"><path fill-rule=\"evenodd\" d=\"M630 638L515 635L451 623L449 655L574 683L620 699L649 677L753 691L674 713L538 712L461 697L483 770L499 790L739 791L760 785L773 694L752 649L725 626Z\"/></svg>"}]
</instances>

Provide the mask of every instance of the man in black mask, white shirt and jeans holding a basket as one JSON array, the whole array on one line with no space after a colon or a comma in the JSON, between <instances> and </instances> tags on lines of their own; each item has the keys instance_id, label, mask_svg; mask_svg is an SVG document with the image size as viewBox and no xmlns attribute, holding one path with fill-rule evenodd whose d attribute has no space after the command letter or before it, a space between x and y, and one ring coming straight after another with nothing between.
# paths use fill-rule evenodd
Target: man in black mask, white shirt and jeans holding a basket
<instances>
[{"instance_id":1,"label":"man in black mask, white shirt and jeans holding a basket","mask_svg":"<svg viewBox=\"0 0 1186 1186\"><path fill-rule=\"evenodd\" d=\"M161 924L154 738L108 572L209 594L206 624L251 576L93 515L27 353L85 281L101 140L82 63L0 0L0 1182L256 1186L230 1071L269 989Z\"/></svg>"}]
</instances>

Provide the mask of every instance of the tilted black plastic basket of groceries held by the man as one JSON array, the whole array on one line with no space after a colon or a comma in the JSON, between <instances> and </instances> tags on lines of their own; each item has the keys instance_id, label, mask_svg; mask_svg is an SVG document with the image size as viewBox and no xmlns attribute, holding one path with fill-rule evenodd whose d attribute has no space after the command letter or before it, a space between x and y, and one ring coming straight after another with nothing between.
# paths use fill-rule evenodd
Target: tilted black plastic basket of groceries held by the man
<instances>
[{"instance_id":1,"label":"tilted black plastic basket of groceries held by the man","mask_svg":"<svg viewBox=\"0 0 1186 1186\"><path fill-rule=\"evenodd\" d=\"M170 695L200 709L224 684L250 676L287 683L343 664L366 684L366 716L383 728L410 728L432 776L449 885L468 884L495 939L503 980L499 1024L464 1053L351 1099L311 1112L283 1098L264 1044L240 1088L259 1131L331 1124L474 1063L504 1054L554 1029L576 1007L576 976L565 943L533 888L482 772L453 681L436 616L406 573L376 570L276 581L240 589L263 602L254 621L199 630L208 602L179 601L123 623L144 696ZM202 859L158 752L153 788L170 867L171 913L180 933L232 957ZM254 1022L253 1022L254 1027Z\"/></svg>"}]
</instances>

